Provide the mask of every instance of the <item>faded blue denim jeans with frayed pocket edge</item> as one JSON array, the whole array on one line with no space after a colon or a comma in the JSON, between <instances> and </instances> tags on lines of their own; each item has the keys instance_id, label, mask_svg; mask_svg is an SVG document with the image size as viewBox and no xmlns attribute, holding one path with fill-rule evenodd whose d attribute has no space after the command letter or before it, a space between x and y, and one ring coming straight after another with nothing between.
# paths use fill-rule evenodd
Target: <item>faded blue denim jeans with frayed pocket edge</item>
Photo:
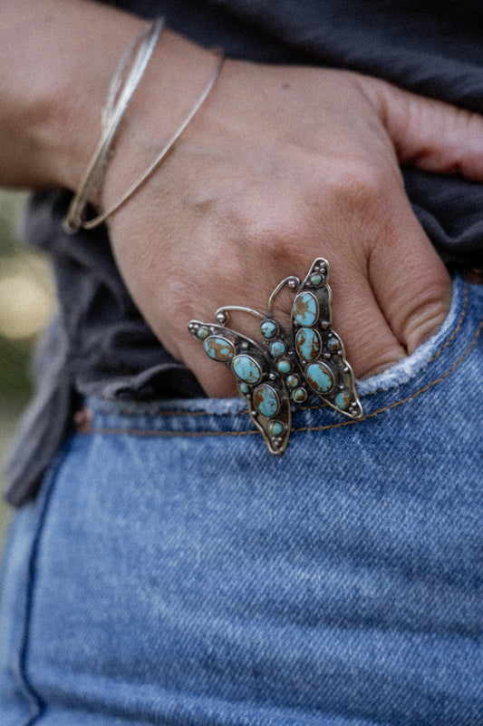
<instances>
[{"instance_id":1,"label":"faded blue denim jeans with frayed pocket edge","mask_svg":"<svg viewBox=\"0 0 483 726\"><path fill-rule=\"evenodd\" d=\"M1 726L483 723L483 287L270 456L243 400L94 400L14 517Z\"/></svg>"}]
</instances>

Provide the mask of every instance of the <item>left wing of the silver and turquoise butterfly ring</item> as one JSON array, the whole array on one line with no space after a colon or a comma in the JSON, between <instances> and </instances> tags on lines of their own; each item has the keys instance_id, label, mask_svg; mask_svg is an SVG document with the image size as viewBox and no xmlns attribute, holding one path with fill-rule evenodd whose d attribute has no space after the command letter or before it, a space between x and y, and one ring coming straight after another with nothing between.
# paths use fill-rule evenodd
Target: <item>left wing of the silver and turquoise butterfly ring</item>
<instances>
[{"instance_id":1,"label":"left wing of the silver and turquoise butterfly ring","mask_svg":"<svg viewBox=\"0 0 483 726\"><path fill-rule=\"evenodd\" d=\"M255 340L217 323L191 320L188 331L212 360L224 363L237 378L248 413L271 454L283 454L291 425L290 397L283 376L268 351Z\"/></svg>"}]
</instances>

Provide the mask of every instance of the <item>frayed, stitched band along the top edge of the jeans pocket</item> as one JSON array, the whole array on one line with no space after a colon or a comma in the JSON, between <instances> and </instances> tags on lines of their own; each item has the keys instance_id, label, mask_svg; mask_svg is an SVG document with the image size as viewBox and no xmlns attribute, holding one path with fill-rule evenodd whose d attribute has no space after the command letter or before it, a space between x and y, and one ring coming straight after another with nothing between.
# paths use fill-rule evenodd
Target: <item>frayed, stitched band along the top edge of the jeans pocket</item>
<instances>
[{"instance_id":1,"label":"frayed, stitched band along the top edge of the jeans pocket","mask_svg":"<svg viewBox=\"0 0 483 726\"><path fill-rule=\"evenodd\" d=\"M456 276L449 315L440 330L411 356L357 383L365 418L353 421L317 397L293 413L292 437L306 430L362 427L417 397L434 397L441 384L460 386L458 371L477 348L483 327L483 286ZM463 390L461 390L463 395ZM153 437L259 436L246 407L236 398L180 398L140 402L86 399L84 433L127 433ZM86 422L88 422L86 424Z\"/></svg>"}]
</instances>

